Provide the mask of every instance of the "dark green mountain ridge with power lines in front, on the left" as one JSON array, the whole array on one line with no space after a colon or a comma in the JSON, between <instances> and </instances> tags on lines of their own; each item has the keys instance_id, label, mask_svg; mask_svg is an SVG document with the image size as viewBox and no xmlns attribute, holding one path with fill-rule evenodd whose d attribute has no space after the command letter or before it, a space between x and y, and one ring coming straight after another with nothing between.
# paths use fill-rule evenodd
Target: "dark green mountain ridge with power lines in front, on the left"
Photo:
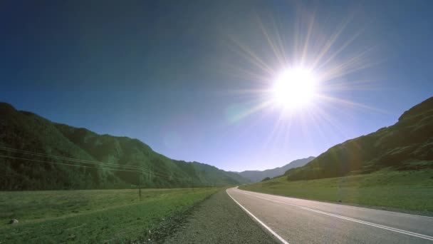
<instances>
[{"instance_id":1,"label":"dark green mountain ridge with power lines in front, on the left","mask_svg":"<svg viewBox=\"0 0 433 244\"><path fill-rule=\"evenodd\" d=\"M103 163L100 163L103 162ZM0 190L239 185L236 173L176 161L137 139L53 123L0 103Z\"/></svg>"}]
</instances>

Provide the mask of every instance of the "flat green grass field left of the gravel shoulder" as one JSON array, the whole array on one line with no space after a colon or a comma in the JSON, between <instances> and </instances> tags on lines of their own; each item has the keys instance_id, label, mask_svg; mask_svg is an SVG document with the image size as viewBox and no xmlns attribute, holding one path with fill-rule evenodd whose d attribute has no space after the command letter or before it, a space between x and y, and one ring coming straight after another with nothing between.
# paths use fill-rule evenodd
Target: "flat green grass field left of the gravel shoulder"
<instances>
[{"instance_id":1,"label":"flat green grass field left of the gravel shoulder","mask_svg":"<svg viewBox=\"0 0 433 244\"><path fill-rule=\"evenodd\" d=\"M1 243L124 243L219 188L0 192ZM11 218L19 223L8 225Z\"/></svg>"}]
</instances>

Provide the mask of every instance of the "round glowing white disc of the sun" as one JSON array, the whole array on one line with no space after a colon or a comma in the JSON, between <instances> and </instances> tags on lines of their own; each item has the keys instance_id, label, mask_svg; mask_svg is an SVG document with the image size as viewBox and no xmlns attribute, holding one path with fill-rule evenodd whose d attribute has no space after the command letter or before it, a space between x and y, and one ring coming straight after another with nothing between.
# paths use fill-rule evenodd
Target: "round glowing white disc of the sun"
<instances>
[{"instance_id":1,"label":"round glowing white disc of the sun","mask_svg":"<svg viewBox=\"0 0 433 244\"><path fill-rule=\"evenodd\" d=\"M310 104L315 96L317 78L308 68L288 68L274 81L272 94L276 105L296 110Z\"/></svg>"}]
</instances>

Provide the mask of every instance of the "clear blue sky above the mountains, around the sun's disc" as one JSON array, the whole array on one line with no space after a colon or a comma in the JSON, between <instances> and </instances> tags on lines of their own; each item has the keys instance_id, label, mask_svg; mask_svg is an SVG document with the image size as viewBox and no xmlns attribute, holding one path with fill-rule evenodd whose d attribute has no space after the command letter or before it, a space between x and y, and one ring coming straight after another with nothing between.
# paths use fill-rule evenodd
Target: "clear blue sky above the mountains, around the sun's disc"
<instances>
[{"instance_id":1,"label":"clear blue sky above the mountains, around the sun's disc","mask_svg":"<svg viewBox=\"0 0 433 244\"><path fill-rule=\"evenodd\" d=\"M283 166L433 95L433 1L1 1L0 101L230 171ZM308 106L268 105L303 66ZM292 93L296 95L296 93Z\"/></svg>"}]
</instances>

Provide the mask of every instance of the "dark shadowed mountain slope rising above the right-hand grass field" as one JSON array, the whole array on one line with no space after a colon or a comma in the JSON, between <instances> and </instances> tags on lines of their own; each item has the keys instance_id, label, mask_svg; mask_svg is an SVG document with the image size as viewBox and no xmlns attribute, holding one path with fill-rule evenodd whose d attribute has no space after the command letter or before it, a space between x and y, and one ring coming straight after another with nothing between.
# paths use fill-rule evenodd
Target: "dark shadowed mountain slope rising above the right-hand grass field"
<instances>
[{"instance_id":1,"label":"dark shadowed mountain slope rising above the right-hand grass field","mask_svg":"<svg viewBox=\"0 0 433 244\"><path fill-rule=\"evenodd\" d=\"M382 168L433 168L433 97L405 111L393 126L333 146L285 175L289 181L296 181L371 173Z\"/></svg>"}]
</instances>

